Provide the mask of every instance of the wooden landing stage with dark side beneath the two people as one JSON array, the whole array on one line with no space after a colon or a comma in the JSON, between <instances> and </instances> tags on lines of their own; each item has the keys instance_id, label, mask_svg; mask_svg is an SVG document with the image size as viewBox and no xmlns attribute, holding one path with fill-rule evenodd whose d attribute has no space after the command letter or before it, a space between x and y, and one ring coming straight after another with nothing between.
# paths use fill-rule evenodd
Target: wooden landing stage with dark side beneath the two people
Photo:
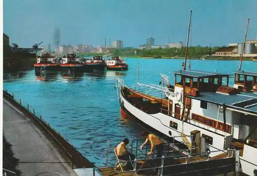
<instances>
[{"instance_id":1,"label":"wooden landing stage with dark side beneath the two people","mask_svg":"<svg viewBox=\"0 0 257 176\"><path fill-rule=\"evenodd\" d=\"M232 152L231 152L232 153ZM183 157L183 158L168 158L163 161L163 173L165 174L176 174L176 175L185 175L185 174L194 174L201 172L199 169L205 170L204 172L210 173L224 173L230 172L234 169L235 159L234 157L227 157L227 153L222 154L219 159L209 159L207 156L192 156L192 157ZM154 167L160 166L154 160L145 161L143 167L140 170L136 170L136 175L158 175L157 169ZM138 167L139 169L139 167ZM145 170L142 170L145 169ZM133 170L127 172L121 172L121 170L115 171L114 167L100 168L99 172L103 176L107 175L133 175Z\"/></svg>"}]
</instances>

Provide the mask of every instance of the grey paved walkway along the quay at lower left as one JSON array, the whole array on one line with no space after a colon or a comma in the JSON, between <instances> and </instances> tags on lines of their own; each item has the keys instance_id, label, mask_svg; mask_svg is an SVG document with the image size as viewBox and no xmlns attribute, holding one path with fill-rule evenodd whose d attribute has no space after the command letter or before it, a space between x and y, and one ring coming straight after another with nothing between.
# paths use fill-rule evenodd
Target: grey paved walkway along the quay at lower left
<instances>
[{"instance_id":1,"label":"grey paved walkway along the quay at lower left","mask_svg":"<svg viewBox=\"0 0 257 176\"><path fill-rule=\"evenodd\" d=\"M28 117L3 99L3 133L12 145L14 157L20 159L22 175L77 175L46 136ZM68 161L70 162L70 161Z\"/></svg>"}]
</instances>

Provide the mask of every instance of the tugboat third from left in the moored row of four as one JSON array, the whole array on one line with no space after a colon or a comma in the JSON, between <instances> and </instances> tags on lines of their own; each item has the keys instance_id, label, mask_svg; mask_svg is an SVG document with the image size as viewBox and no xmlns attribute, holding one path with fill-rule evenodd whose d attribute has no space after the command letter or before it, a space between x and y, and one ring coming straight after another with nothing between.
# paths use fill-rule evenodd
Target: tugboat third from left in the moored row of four
<instances>
[{"instance_id":1,"label":"tugboat third from left in the moored row of four","mask_svg":"<svg viewBox=\"0 0 257 176\"><path fill-rule=\"evenodd\" d=\"M84 65L86 69L99 69L103 71L105 62L102 56L93 56L93 59L87 59Z\"/></svg>"}]
</instances>

